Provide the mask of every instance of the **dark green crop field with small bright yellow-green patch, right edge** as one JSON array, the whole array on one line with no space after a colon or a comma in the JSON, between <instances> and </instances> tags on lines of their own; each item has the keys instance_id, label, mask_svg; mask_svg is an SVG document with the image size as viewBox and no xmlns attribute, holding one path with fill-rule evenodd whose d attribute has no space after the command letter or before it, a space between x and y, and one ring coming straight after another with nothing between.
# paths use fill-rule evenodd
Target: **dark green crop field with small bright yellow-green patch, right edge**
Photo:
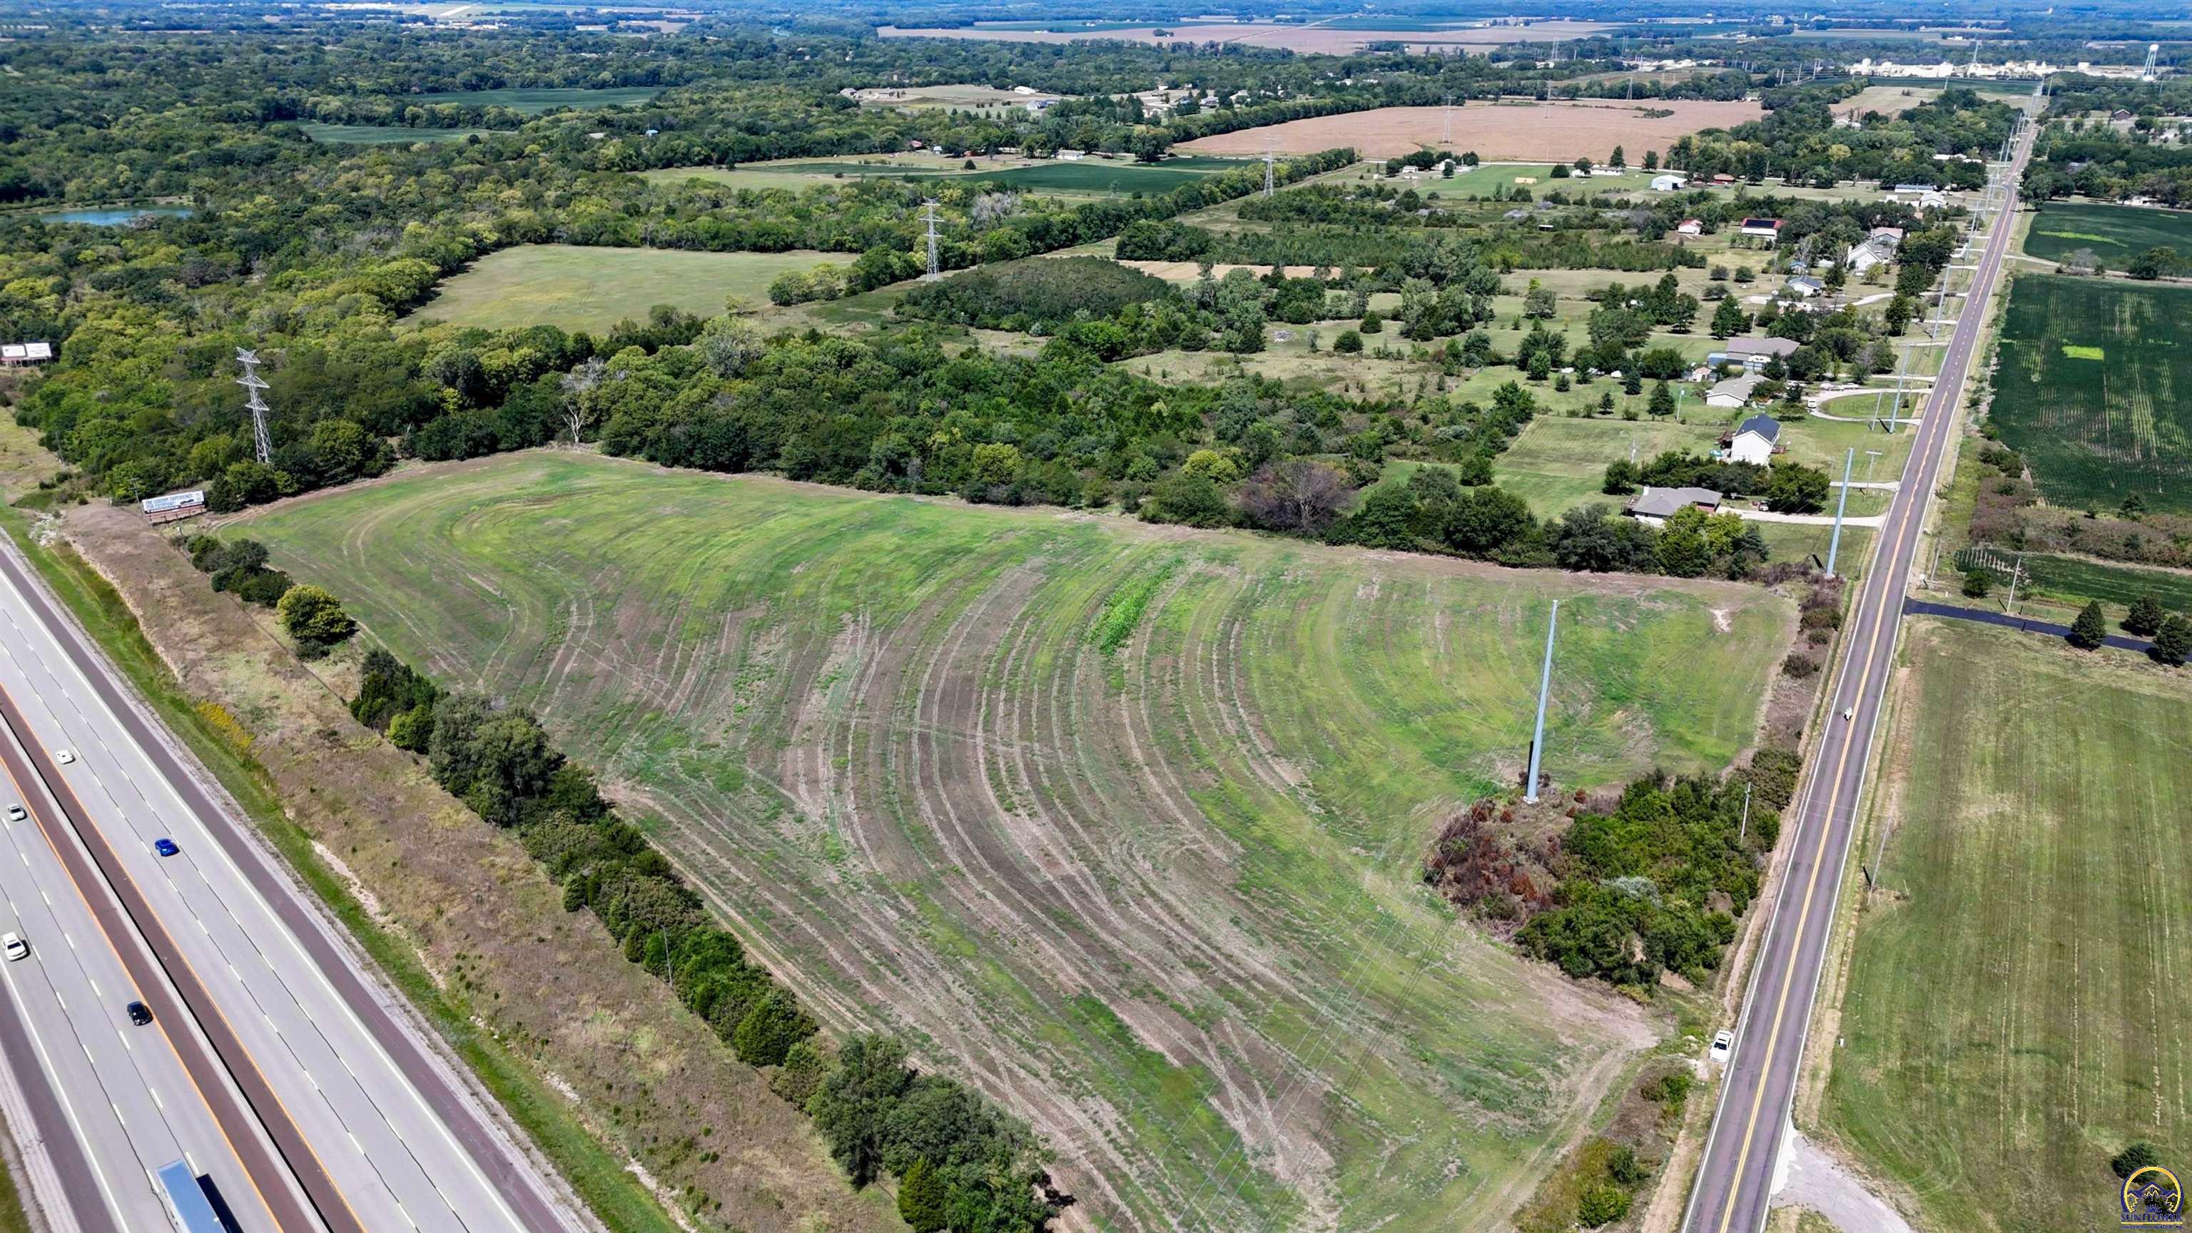
<instances>
[{"instance_id":1,"label":"dark green crop field with small bright yellow-green patch, right edge","mask_svg":"<svg viewBox=\"0 0 2192 1233\"><path fill-rule=\"evenodd\" d=\"M2192 287L2019 274L1993 421L2041 496L2069 509L2192 511Z\"/></svg>"}]
</instances>

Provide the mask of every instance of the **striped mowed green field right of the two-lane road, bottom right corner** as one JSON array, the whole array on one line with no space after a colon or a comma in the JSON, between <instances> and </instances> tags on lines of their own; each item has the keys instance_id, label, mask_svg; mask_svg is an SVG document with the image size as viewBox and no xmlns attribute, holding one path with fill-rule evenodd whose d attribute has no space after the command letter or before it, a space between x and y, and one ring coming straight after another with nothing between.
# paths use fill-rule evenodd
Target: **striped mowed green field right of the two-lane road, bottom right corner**
<instances>
[{"instance_id":1,"label":"striped mowed green field right of the two-lane road, bottom right corner","mask_svg":"<svg viewBox=\"0 0 2192 1233\"><path fill-rule=\"evenodd\" d=\"M2153 1141L2179 1176L2192 1152L2192 680L1964 623L1907 638L1898 827L1822 1115L1933 1229L2113 1229L2113 1152Z\"/></svg>"}]
</instances>

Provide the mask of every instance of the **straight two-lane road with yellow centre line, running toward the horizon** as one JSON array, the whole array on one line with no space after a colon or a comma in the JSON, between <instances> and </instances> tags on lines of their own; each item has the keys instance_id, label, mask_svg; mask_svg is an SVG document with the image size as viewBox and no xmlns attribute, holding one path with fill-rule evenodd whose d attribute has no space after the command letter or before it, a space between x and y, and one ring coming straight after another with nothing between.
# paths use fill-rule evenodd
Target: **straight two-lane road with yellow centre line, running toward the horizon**
<instances>
[{"instance_id":1,"label":"straight two-lane road with yellow centre line, running toward the horizon","mask_svg":"<svg viewBox=\"0 0 2192 1233\"><path fill-rule=\"evenodd\" d=\"M1872 564L1850 608L1833 711L1826 735L1804 768L1791 816L1789 860L1773 895L1773 919L1751 968L1743 1018L1736 1025L1736 1049L1721 1084L1705 1156L1690 1189L1683 1215L1688 1233L1754 1233L1767 1220L1813 1000L1833 935L1835 902L1841 895L1850 836L1857 829L1872 733L1887 695L1903 621L1903 588L1918 559L1927 500L1940 480L1940 465L1951 443L1955 399L1979 351L1988 305L2001 281L2010 224L2017 215L2017 184L2030 154L2032 125L2023 125L2010 145L2008 165L1997 167L2003 206L1986 230L1986 248L1973 272L1964 312L1949 336L1940 380L1927 395L1918 441L1903 467L1903 485L1887 507ZM1852 713L1848 722L1841 717L1843 711Z\"/></svg>"}]
</instances>

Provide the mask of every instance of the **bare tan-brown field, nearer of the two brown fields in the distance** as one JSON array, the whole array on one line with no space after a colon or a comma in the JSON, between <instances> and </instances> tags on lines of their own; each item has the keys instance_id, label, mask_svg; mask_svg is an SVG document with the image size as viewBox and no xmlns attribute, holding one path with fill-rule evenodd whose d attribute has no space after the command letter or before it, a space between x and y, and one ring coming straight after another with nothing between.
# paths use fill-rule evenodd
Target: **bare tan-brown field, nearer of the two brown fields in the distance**
<instances>
[{"instance_id":1,"label":"bare tan-brown field, nearer of the two brown fields in the distance","mask_svg":"<svg viewBox=\"0 0 2192 1233\"><path fill-rule=\"evenodd\" d=\"M1651 112L1672 112L1666 116ZM1315 154L1352 145L1363 158L1394 158L1425 147L1473 149L1488 160L1567 162L1607 158L1613 147L1631 160L1646 149L1668 149L1699 129L1756 121L1758 103L1670 99L1644 103L1471 103L1453 110L1453 140L1445 143L1445 108L1377 108L1344 116L1313 116L1181 143L1181 154Z\"/></svg>"}]
</instances>

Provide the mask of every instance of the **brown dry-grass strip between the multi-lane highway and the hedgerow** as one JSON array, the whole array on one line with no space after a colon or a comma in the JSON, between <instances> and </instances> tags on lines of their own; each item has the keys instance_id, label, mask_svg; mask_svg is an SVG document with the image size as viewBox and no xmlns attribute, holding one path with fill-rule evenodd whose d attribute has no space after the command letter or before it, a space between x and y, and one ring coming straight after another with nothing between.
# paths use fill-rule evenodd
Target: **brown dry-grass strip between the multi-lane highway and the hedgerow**
<instances>
[{"instance_id":1,"label":"brown dry-grass strip between the multi-lane highway and the hedgerow","mask_svg":"<svg viewBox=\"0 0 2192 1233\"><path fill-rule=\"evenodd\" d=\"M807 1119L627 963L592 913L566 913L513 838L443 792L423 759L353 722L270 619L215 595L134 511L77 507L66 531L140 616L158 614L145 634L184 691L243 720L289 816L445 996L566 1093L612 1152L721 1202L686 1213L695 1226L901 1226L846 1187Z\"/></svg>"}]
</instances>

